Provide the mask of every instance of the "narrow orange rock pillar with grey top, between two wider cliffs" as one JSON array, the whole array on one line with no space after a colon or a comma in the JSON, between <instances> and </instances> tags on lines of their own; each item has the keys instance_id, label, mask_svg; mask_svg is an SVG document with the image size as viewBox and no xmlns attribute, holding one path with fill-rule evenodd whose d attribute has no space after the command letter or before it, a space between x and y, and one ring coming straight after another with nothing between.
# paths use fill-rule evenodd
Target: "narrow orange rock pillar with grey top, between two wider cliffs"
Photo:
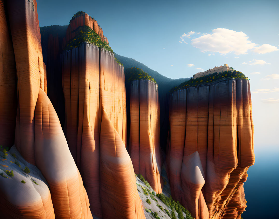
<instances>
[{"instance_id":1,"label":"narrow orange rock pillar with grey top, between two wider cliffs","mask_svg":"<svg viewBox=\"0 0 279 219\"><path fill-rule=\"evenodd\" d=\"M162 192L160 108L158 85L135 80L130 85L129 154L136 174L141 174L156 193Z\"/></svg>"}]
</instances>

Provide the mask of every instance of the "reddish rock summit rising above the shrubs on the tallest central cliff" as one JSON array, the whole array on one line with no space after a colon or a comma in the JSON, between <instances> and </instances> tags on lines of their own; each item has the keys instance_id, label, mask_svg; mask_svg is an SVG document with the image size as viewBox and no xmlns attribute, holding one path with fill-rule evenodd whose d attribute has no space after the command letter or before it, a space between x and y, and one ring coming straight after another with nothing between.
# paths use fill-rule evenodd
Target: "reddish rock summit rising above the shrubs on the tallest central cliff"
<instances>
[{"instance_id":1,"label":"reddish rock summit rising above the shrubs on the tallest central cliff","mask_svg":"<svg viewBox=\"0 0 279 219\"><path fill-rule=\"evenodd\" d=\"M66 36L63 40L63 48L73 39L76 35L78 35L78 28L81 26L89 26L95 33L97 33L102 42L109 43L107 38L103 35L103 30L98 25L98 22L89 16L87 13L83 11L78 11L76 14L74 14L73 18L70 21L70 24L68 26L68 29L66 31Z\"/></svg>"}]
</instances>

